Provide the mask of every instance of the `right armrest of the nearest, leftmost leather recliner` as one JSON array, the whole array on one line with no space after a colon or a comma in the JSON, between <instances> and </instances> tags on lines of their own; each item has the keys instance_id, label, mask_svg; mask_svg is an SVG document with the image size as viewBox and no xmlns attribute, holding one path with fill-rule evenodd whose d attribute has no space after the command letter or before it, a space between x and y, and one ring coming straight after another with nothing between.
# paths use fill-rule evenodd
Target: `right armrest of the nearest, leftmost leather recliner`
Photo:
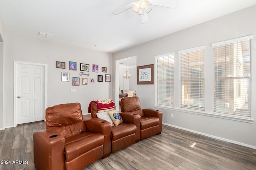
<instances>
[{"instance_id":1,"label":"right armrest of the nearest, leftmost leather recliner","mask_svg":"<svg viewBox=\"0 0 256 170\"><path fill-rule=\"evenodd\" d=\"M86 130L92 133L101 133L104 135L104 143L103 143L103 156L102 158L106 158L110 156L111 152L111 123L100 118L92 118L84 121L86 125Z\"/></svg>"}]
</instances>

